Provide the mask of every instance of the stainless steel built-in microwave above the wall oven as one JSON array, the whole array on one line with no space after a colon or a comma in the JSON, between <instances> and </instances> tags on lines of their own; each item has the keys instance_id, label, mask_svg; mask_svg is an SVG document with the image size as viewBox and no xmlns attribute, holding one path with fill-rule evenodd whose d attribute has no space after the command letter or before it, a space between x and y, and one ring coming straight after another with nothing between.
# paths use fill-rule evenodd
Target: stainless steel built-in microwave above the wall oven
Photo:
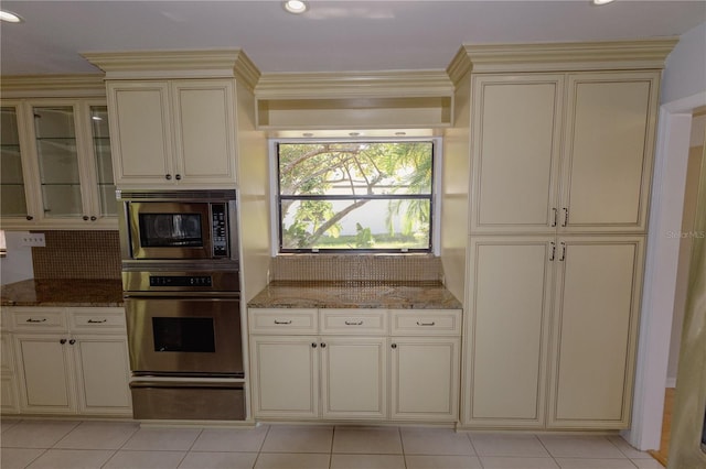
<instances>
[{"instance_id":1,"label":"stainless steel built-in microwave above the wall oven","mask_svg":"<svg viewBox=\"0 0 706 469\"><path fill-rule=\"evenodd\" d=\"M118 190L124 261L236 260L235 190Z\"/></svg>"}]
</instances>

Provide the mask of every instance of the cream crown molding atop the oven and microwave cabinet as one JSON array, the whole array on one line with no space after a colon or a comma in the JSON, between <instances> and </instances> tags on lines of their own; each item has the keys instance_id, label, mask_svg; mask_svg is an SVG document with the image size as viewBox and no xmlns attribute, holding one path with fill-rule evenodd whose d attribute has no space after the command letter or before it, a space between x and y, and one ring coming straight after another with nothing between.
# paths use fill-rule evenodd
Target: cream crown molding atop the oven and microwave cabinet
<instances>
[{"instance_id":1,"label":"cream crown molding atop the oven and microwave cabinet","mask_svg":"<svg viewBox=\"0 0 706 469\"><path fill-rule=\"evenodd\" d=\"M254 90L260 77L239 48L185 51L85 52L106 79L237 78Z\"/></svg>"}]
</instances>

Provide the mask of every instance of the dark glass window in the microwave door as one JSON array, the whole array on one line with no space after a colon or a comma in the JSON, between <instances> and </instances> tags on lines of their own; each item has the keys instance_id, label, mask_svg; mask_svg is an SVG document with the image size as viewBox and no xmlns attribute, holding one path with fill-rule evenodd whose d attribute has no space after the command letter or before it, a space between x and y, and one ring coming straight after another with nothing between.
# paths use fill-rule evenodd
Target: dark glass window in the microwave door
<instances>
[{"instance_id":1,"label":"dark glass window in the microwave door","mask_svg":"<svg viewBox=\"0 0 706 469\"><path fill-rule=\"evenodd\" d=\"M203 248L201 214L139 214L142 248Z\"/></svg>"}]
</instances>

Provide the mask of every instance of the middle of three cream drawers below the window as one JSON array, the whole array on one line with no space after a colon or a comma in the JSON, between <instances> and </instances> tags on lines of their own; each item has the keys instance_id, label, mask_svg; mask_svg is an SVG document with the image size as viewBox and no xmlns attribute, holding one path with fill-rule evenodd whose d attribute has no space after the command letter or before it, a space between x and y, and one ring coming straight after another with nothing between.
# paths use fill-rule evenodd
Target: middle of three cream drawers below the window
<instances>
[{"instance_id":1,"label":"middle of three cream drawers below the window","mask_svg":"<svg viewBox=\"0 0 706 469\"><path fill-rule=\"evenodd\" d=\"M319 309L321 334L387 334L387 309Z\"/></svg>"}]
</instances>

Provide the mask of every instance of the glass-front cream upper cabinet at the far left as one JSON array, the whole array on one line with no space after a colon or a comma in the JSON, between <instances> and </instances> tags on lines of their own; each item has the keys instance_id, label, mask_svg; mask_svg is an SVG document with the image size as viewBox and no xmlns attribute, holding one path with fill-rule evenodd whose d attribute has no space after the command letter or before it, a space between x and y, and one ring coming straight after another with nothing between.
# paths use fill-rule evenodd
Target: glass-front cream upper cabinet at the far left
<instances>
[{"instance_id":1,"label":"glass-front cream upper cabinet at the far left","mask_svg":"<svg viewBox=\"0 0 706 469\"><path fill-rule=\"evenodd\" d=\"M89 83L103 85L95 78ZM115 229L117 204L105 98L44 97L73 94L56 89L3 89L3 97L36 97L1 102L2 227Z\"/></svg>"}]
</instances>

